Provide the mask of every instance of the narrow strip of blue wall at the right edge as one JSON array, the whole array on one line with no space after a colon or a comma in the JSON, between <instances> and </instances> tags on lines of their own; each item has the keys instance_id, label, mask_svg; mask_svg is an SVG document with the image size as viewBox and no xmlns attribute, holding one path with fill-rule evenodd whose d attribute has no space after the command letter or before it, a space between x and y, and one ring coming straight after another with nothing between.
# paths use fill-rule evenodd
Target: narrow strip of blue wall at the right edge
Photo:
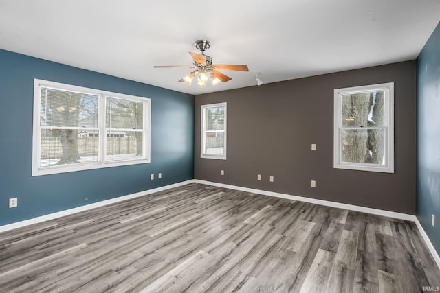
<instances>
[{"instance_id":1,"label":"narrow strip of blue wall at the right edge","mask_svg":"<svg viewBox=\"0 0 440 293\"><path fill-rule=\"evenodd\" d=\"M416 211L440 253L440 24L417 58ZM436 216L435 228L432 215Z\"/></svg>"}]
</instances>

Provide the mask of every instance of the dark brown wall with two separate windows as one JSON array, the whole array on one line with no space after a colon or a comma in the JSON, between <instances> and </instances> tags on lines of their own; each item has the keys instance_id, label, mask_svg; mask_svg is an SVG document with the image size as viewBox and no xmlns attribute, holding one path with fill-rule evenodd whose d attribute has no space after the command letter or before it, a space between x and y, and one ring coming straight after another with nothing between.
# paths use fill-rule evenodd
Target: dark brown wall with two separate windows
<instances>
[{"instance_id":1,"label":"dark brown wall with two separate windows","mask_svg":"<svg viewBox=\"0 0 440 293\"><path fill-rule=\"evenodd\" d=\"M333 90L384 82L395 83L395 173L333 169ZM197 95L195 178L414 214L415 95L415 61ZM216 102L228 102L227 160L200 158L200 108Z\"/></svg>"}]
</instances>

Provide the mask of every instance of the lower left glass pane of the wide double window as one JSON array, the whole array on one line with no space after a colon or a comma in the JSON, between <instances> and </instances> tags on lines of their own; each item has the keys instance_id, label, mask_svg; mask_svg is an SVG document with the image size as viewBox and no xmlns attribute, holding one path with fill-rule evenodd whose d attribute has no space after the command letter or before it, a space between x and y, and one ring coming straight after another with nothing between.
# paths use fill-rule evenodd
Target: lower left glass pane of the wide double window
<instances>
[{"instance_id":1,"label":"lower left glass pane of the wide double window","mask_svg":"<svg viewBox=\"0 0 440 293\"><path fill-rule=\"evenodd\" d=\"M97 161L98 130L41 130L40 167Z\"/></svg>"}]
</instances>

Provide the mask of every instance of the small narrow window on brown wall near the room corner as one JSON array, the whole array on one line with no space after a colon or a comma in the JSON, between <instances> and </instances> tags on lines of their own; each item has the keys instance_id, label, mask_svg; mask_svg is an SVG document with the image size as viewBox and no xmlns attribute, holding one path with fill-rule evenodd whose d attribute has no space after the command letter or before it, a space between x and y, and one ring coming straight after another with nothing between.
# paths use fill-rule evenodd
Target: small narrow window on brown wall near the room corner
<instances>
[{"instance_id":1,"label":"small narrow window on brown wall near the room corner","mask_svg":"<svg viewBox=\"0 0 440 293\"><path fill-rule=\"evenodd\" d=\"M201 157L226 159L226 103L201 106Z\"/></svg>"}]
</instances>

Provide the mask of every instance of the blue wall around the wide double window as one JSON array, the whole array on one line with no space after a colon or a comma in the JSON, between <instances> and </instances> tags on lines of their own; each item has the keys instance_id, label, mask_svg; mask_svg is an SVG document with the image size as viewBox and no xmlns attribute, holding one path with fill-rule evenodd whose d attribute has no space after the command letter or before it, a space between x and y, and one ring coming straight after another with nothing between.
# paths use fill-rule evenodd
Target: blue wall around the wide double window
<instances>
[{"instance_id":1,"label":"blue wall around the wide double window","mask_svg":"<svg viewBox=\"0 0 440 293\"><path fill-rule=\"evenodd\" d=\"M32 177L34 78L151 98L151 163ZM0 226L193 178L192 95L0 50L0 105Z\"/></svg>"}]
</instances>

